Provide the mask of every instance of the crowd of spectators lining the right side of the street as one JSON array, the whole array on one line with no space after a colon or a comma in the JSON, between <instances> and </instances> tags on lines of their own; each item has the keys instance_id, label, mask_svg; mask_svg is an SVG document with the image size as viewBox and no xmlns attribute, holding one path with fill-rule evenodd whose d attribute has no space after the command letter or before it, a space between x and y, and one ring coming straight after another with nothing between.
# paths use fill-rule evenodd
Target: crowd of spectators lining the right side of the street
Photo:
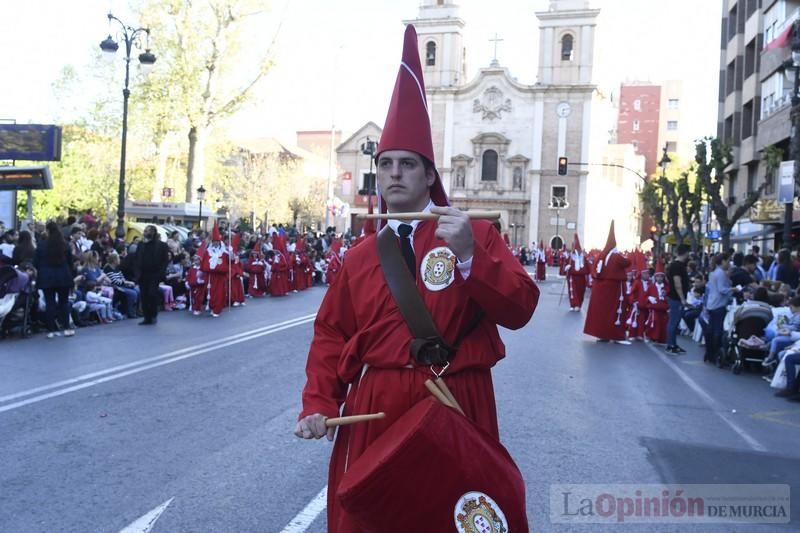
<instances>
[{"instance_id":1,"label":"crowd of spectators lining the right side of the street","mask_svg":"<svg viewBox=\"0 0 800 533\"><path fill-rule=\"evenodd\" d=\"M687 290L670 307L670 325L705 345L704 361L719 368L737 365L737 350L763 353L765 380L776 396L800 401L800 261L789 250L761 254L753 246L745 254L735 250L715 255L694 255L679 248L667 257L667 279L674 284L684 263ZM683 298L679 298L683 296ZM737 334L737 324L753 308L764 310L763 329L747 338ZM677 350L675 350L677 348ZM677 342L667 342L671 354L684 353ZM737 367L738 370L738 367Z\"/></svg>"}]
</instances>

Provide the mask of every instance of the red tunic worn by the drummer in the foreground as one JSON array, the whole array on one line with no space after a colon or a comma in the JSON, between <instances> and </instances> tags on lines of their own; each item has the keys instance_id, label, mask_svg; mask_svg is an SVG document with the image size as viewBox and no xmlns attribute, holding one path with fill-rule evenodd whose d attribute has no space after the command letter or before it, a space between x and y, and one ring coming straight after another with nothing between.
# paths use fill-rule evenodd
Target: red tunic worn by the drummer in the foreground
<instances>
[{"instance_id":1,"label":"red tunic worn by the drummer in the foreground","mask_svg":"<svg viewBox=\"0 0 800 533\"><path fill-rule=\"evenodd\" d=\"M504 357L505 347L496 325L510 329L524 326L536 307L539 289L492 226L475 221L472 227L476 245L469 277L464 280L454 267L452 283L443 290L431 291L420 279L419 265L428 251L445 243L435 238L435 223L419 223L413 238L417 290L449 342L474 320L479 309L485 313L461 343L444 379L467 416L497 437L490 369ZM306 366L308 381L301 418L314 413L338 416L343 402L344 415L386 413L383 420L338 430L328 479L330 532L359 531L335 498L348 464L357 461L403 413L429 396L424 383L431 372L414 365L410 342L411 333L381 271L375 236L370 235L348 252L347 261L325 295ZM436 497L435 487L420 490Z\"/></svg>"}]
</instances>

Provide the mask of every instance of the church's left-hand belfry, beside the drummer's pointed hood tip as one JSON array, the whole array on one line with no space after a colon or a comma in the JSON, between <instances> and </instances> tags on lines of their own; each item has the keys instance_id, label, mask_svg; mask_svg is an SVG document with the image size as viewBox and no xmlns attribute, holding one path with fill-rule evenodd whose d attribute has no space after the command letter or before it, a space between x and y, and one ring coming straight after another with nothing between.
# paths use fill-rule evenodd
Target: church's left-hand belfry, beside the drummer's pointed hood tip
<instances>
[{"instance_id":1,"label":"church's left-hand belfry, beside the drummer's pointed hood tip","mask_svg":"<svg viewBox=\"0 0 800 533\"><path fill-rule=\"evenodd\" d=\"M405 24L417 28L425 87L454 87L466 82L464 21L452 0L423 0L419 14Z\"/></svg>"}]
</instances>

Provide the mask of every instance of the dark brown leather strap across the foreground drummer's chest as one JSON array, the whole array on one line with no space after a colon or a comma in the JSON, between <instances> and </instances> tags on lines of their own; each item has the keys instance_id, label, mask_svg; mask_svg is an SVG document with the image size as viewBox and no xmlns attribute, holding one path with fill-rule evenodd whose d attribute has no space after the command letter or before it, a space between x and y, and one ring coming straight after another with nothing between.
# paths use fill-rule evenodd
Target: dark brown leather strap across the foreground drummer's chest
<instances>
[{"instance_id":1,"label":"dark brown leather strap across the foreground drummer's chest","mask_svg":"<svg viewBox=\"0 0 800 533\"><path fill-rule=\"evenodd\" d=\"M378 233L378 256L386 278L386 284L392 293L400 313L411 330L411 336L418 339L439 338L439 332L431 318L425 302L422 301L414 284L408 267L400 254L397 237L387 225Z\"/></svg>"}]
</instances>

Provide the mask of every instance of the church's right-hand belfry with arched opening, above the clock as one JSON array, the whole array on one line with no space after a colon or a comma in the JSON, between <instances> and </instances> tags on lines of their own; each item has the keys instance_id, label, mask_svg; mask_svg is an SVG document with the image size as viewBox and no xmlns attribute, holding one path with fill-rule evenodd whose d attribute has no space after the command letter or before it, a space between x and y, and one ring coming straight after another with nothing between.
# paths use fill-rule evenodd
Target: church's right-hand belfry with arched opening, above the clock
<instances>
[{"instance_id":1,"label":"church's right-hand belfry with arched opening, above the clock","mask_svg":"<svg viewBox=\"0 0 800 533\"><path fill-rule=\"evenodd\" d=\"M551 0L539 19L538 81L546 85L592 83L594 33L599 9L589 0Z\"/></svg>"}]
</instances>

